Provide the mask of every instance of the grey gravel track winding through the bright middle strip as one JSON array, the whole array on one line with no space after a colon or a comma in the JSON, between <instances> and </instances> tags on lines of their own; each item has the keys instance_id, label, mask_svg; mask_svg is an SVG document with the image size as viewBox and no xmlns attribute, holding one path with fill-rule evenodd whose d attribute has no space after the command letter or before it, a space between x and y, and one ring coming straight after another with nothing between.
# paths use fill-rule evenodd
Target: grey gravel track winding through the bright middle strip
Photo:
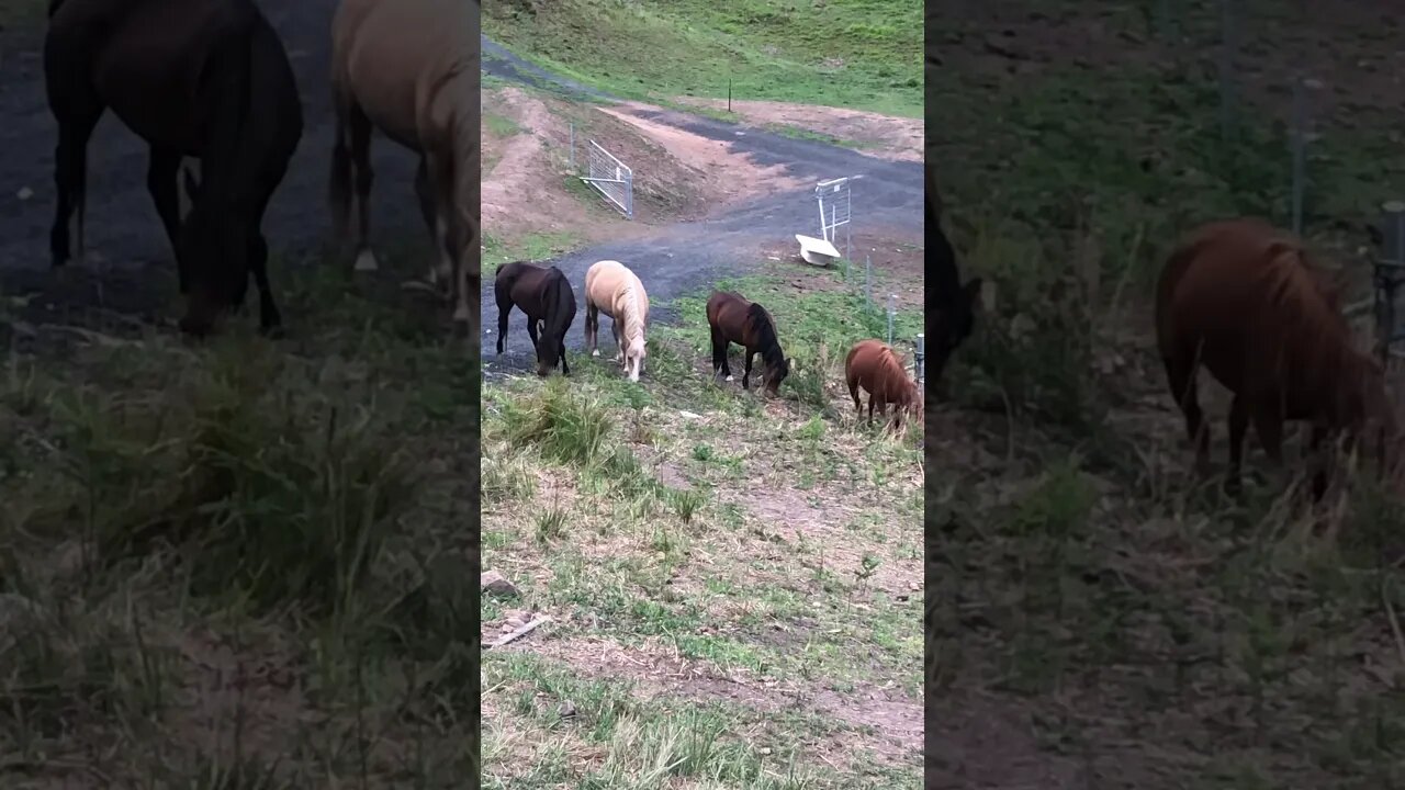
<instances>
[{"instance_id":1,"label":"grey gravel track winding through the bright middle strip","mask_svg":"<svg viewBox=\"0 0 1405 790\"><path fill-rule=\"evenodd\" d=\"M579 100L610 100L597 90L555 77L516 58L486 37L482 45L486 75L548 87ZM813 184L842 176L857 177L851 187L854 233L873 233L882 228L892 236L920 239L923 187L922 170L916 163L887 162L823 142L794 139L686 112L641 110L622 101L618 111L724 142L732 152L745 153L760 166L784 166L785 174L799 181ZM600 142L606 148L610 145L608 141ZM639 166L635 164L635 170L639 173ZM705 288L721 277L747 271L760 257L759 250L763 246L788 249L795 246L794 233L818 235L815 212L813 187L805 187L728 207L701 222L658 228L642 238L597 245L551 261L566 274L576 291L577 311L566 340L568 354L572 351L579 354L584 347L584 305L580 301L580 288L586 268L592 263L606 259L620 260L639 274L649 290L651 301L672 299ZM485 228L485 231L492 233L493 229ZM672 318L666 309L651 309L651 322L667 322ZM493 299L493 284L485 280L485 375L521 371L532 365L525 323L527 319L513 311L504 351L500 357L496 356L497 306ZM604 323L608 323L608 319ZM601 326L601 330L608 337L608 326Z\"/></svg>"}]
</instances>

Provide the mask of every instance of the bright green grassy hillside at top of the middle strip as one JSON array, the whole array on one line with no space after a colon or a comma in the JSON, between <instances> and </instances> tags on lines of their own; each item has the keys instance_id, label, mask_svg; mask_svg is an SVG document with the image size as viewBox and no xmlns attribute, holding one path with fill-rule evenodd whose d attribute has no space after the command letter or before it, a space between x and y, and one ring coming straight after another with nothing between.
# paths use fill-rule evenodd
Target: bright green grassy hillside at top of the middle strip
<instances>
[{"instance_id":1,"label":"bright green grassy hillside at top of the middle strip","mask_svg":"<svg viewBox=\"0 0 1405 790\"><path fill-rule=\"evenodd\" d=\"M836 0L490 7L483 31L538 65L629 98L726 96L920 117L922 6Z\"/></svg>"}]
</instances>

